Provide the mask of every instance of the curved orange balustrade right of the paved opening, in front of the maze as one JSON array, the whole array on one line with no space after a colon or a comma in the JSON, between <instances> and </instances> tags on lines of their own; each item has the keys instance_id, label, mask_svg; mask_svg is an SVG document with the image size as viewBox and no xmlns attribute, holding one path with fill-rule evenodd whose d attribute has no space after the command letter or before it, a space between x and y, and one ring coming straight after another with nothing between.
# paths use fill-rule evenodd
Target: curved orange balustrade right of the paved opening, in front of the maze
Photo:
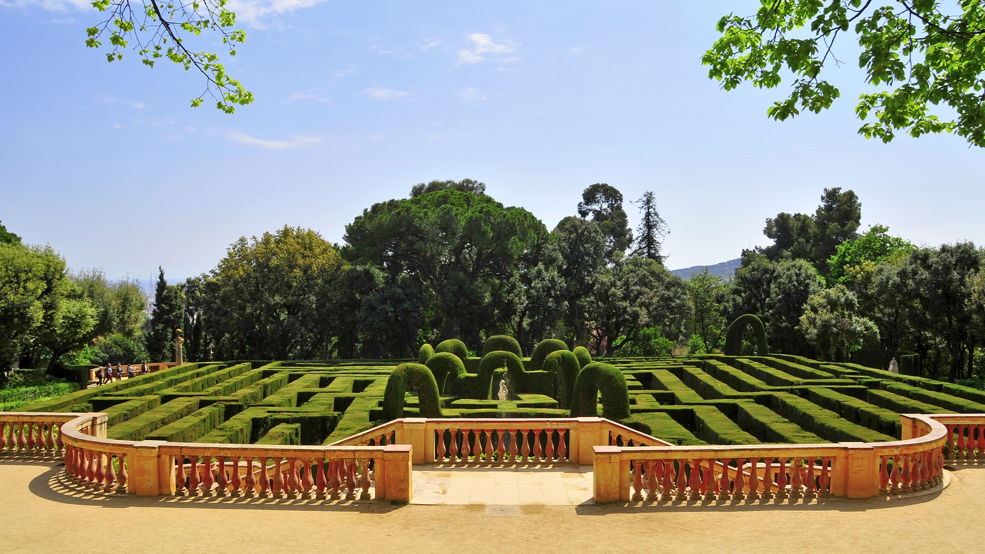
<instances>
[{"instance_id":1,"label":"curved orange balustrade right of the paved opening, in front of the maze","mask_svg":"<svg viewBox=\"0 0 985 554\"><path fill-rule=\"evenodd\" d=\"M594 447L595 500L870 498L920 491L942 481L951 431L959 430L958 443L969 437L964 450L952 451L970 451L967 428L980 430L983 417L902 415L903 440L890 443Z\"/></svg>"}]
</instances>

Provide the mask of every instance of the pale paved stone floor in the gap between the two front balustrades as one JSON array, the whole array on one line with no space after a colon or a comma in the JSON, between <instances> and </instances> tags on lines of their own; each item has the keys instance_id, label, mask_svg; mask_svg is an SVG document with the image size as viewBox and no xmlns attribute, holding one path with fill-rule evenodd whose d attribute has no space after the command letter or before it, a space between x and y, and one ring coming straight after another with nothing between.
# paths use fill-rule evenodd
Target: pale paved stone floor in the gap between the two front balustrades
<instances>
[{"instance_id":1,"label":"pale paved stone floor in the gap between the two front balustrades","mask_svg":"<svg viewBox=\"0 0 985 554\"><path fill-rule=\"evenodd\" d=\"M592 466L418 465L414 471L411 504L595 504L592 500Z\"/></svg>"}]
</instances>

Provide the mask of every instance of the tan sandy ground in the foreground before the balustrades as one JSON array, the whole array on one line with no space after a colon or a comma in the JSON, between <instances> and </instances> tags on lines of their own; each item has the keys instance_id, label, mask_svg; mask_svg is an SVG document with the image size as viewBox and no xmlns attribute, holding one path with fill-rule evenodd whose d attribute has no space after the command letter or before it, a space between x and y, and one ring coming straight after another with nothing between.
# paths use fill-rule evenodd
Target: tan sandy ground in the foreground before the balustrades
<instances>
[{"instance_id":1,"label":"tan sandy ground in the foreground before the balustrades","mask_svg":"<svg viewBox=\"0 0 985 554\"><path fill-rule=\"evenodd\" d=\"M985 552L985 466L905 500L501 510L104 497L63 475L59 462L0 456L0 553Z\"/></svg>"}]
</instances>

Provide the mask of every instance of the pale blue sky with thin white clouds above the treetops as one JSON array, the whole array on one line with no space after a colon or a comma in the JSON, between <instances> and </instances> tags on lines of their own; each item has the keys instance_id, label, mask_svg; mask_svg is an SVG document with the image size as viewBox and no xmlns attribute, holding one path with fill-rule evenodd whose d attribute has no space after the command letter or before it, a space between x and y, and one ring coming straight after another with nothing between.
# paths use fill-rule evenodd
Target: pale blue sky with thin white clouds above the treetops
<instances>
[{"instance_id":1,"label":"pale blue sky with thin white clouds above the treetops","mask_svg":"<svg viewBox=\"0 0 985 554\"><path fill-rule=\"evenodd\" d=\"M755 4L240 2L248 38L227 67L256 102L227 115L188 106L200 75L86 48L99 14L82 0L0 0L0 220L73 268L172 281L285 224L339 242L433 178L483 180L549 229L591 183L653 190L671 268L767 242L765 218L813 211L825 186L859 194L864 226L985 242L985 152L860 137L851 44L820 115L774 122L786 84L707 78L715 22Z\"/></svg>"}]
</instances>

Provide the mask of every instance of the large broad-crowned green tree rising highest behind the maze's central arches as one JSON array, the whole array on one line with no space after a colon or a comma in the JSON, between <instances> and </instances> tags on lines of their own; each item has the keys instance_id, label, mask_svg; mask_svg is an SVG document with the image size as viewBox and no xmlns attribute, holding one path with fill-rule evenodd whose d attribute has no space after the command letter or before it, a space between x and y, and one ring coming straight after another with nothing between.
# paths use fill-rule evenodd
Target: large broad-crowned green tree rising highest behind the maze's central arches
<instances>
[{"instance_id":1,"label":"large broad-crowned green tree rising highest behind the maze's central arches","mask_svg":"<svg viewBox=\"0 0 985 554\"><path fill-rule=\"evenodd\" d=\"M346 226L347 259L419 279L437 300L441 338L479 339L492 282L511 278L517 259L547 240L523 208L475 192L442 189L373 204ZM475 344L478 346L478 344Z\"/></svg>"}]
</instances>

